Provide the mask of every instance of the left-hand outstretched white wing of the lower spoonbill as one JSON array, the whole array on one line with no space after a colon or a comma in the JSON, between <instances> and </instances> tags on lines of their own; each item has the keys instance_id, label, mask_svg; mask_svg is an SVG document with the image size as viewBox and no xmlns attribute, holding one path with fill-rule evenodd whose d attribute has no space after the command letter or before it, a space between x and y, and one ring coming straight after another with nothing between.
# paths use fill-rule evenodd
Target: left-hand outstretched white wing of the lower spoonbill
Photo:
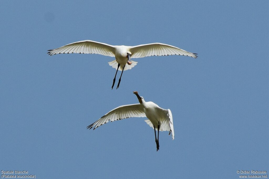
<instances>
[{"instance_id":1,"label":"left-hand outstretched white wing of the lower spoonbill","mask_svg":"<svg viewBox=\"0 0 269 179\"><path fill-rule=\"evenodd\" d=\"M115 120L121 120L125 118L131 118L131 117L146 117L146 114L144 113L144 108L141 104L129 104L129 105L123 105L119 106L115 109L112 109L107 114L102 116L100 119L98 119L93 124L89 125L87 129L95 129L109 121L115 121Z\"/></svg>"}]
</instances>

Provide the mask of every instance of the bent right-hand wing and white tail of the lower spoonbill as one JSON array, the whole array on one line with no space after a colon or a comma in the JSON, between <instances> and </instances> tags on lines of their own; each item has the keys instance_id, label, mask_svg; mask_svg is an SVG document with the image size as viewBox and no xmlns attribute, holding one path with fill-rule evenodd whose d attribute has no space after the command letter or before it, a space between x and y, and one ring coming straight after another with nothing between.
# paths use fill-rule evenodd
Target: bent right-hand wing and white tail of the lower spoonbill
<instances>
[{"instance_id":1,"label":"bent right-hand wing and white tail of the lower spoonbill","mask_svg":"<svg viewBox=\"0 0 269 179\"><path fill-rule=\"evenodd\" d=\"M172 112L170 109L164 109L164 112L167 114L165 115L165 118L161 119L161 126L160 126L160 131L169 131L172 134L172 138L174 140L174 125L173 125L173 117L172 117ZM154 129L153 124L150 122L150 120L145 120L145 122ZM155 129L157 130L157 129Z\"/></svg>"}]
</instances>

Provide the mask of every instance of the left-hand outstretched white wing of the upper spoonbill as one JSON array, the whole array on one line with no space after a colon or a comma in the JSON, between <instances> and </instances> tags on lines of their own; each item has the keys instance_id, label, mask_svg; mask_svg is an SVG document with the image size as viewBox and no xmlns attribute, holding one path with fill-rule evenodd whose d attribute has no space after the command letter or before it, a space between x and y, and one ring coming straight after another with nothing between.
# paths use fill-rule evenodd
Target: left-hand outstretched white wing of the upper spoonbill
<instances>
[{"instance_id":1,"label":"left-hand outstretched white wing of the upper spoonbill","mask_svg":"<svg viewBox=\"0 0 269 179\"><path fill-rule=\"evenodd\" d=\"M70 43L57 49L48 50L49 55L59 53L86 53L100 54L110 57L115 57L115 48L113 45L106 43L94 42L90 40Z\"/></svg>"}]
</instances>

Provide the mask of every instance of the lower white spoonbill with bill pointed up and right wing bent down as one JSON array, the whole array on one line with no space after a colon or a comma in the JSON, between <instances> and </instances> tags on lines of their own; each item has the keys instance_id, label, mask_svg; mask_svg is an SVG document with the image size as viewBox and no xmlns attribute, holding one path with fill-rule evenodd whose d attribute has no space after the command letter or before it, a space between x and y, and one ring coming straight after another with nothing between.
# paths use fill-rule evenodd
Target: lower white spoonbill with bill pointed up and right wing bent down
<instances>
[{"instance_id":1,"label":"lower white spoonbill with bill pointed up and right wing bent down","mask_svg":"<svg viewBox=\"0 0 269 179\"><path fill-rule=\"evenodd\" d=\"M143 97L140 97L137 91L133 92L140 104L129 104L119 106L112 109L107 114L102 116L93 124L89 125L87 129L93 128L93 130L109 121L121 120L131 117L147 117L145 122L154 129L155 142L157 145L157 151L159 150L159 131L169 131L172 134L174 140L174 126L173 117L170 109L162 109L153 102L146 102ZM156 137L156 130L158 130L158 137Z\"/></svg>"}]
</instances>

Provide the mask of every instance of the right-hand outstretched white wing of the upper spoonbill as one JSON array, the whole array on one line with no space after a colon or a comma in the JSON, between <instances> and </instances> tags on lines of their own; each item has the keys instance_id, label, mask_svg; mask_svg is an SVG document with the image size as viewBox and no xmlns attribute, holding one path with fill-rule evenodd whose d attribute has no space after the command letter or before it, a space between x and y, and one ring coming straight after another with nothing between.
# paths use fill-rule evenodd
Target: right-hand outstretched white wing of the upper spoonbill
<instances>
[{"instance_id":1,"label":"right-hand outstretched white wing of the upper spoonbill","mask_svg":"<svg viewBox=\"0 0 269 179\"><path fill-rule=\"evenodd\" d=\"M185 55L197 58L196 53L187 52L180 48L163 44L163 43L150 43L145 45L137 45L130 47L132 53L131 58L142 58L148 56L164 56L164 55Z\"/></svg>"}]
</instances>

